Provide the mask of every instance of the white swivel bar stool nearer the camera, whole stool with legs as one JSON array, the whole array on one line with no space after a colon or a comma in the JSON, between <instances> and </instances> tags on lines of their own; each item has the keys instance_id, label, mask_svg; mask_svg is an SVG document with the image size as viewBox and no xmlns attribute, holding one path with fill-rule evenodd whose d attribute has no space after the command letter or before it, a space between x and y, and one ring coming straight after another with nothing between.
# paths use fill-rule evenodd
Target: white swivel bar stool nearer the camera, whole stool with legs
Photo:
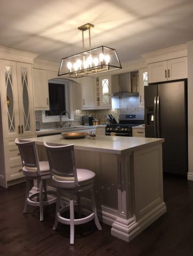
<instances>
[{"instance_id":1,"label":"white swivel bar stool nearer the camera, whole stool with legs","mask_svg":"<svg viewBox=\"0 0 193 256\"><path fill-rule=\"evenodd\" d=\"M95 225L101 230L101 225L97 217L95 206L93 182L95 173L86 169L76 169L74 145L52 147L44 142L47 158L49 159L50 170L52 174L52 183L57 188L57 207L55 213L55 223L53 230L58 226L58 221L70 225L70 244L74 244L75 233L74 225L89 222L94 219ZM92 209L81 204L80 192L90 189ZM70 205L60 209L60 198L62 192L68 192L70 195ZM74 203L74 194L77 195L77 204ZM87 209L92 213L81 218L81 208ZM63 218L61 214L70 210L70 219ZM74 218L74 210L78 212L78 218Z\"/></svg>"}]
</instances>

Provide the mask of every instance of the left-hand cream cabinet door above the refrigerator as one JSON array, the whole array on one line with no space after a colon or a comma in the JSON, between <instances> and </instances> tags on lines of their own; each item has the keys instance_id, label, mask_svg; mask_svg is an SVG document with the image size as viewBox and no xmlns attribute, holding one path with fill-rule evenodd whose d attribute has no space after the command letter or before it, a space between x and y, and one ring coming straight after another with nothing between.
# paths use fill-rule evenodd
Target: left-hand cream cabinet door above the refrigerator
<instances>
[{"instance_id":1,"label":"left-hand cream cabinet door above the refrigerator","mask_svg":"<svg viewBox=\"0 0 193 256\"><path fill-rule=\"evenodd\" d=\"M167 61L148 65L148 83L167 81Z\"/></svg>"}]
</instances>

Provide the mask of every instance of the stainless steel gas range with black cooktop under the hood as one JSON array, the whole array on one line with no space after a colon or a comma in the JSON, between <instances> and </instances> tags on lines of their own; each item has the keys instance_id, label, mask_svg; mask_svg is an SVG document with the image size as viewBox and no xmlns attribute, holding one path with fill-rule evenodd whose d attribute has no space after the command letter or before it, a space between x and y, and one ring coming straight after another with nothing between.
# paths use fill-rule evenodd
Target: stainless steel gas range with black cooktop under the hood
<instances>
[{"instance_id":1,"label":"stainless steel gas range with black cooktop under the hood","mask_svg":"<svg viewBox=\"0 0 193 256\"><path fill-rule=\"evenodd\" d=\"M120 114L118 124L107 124L105 135L132 137L132 126L144 124L144 114Z\"/></svg>"}]
</instances>

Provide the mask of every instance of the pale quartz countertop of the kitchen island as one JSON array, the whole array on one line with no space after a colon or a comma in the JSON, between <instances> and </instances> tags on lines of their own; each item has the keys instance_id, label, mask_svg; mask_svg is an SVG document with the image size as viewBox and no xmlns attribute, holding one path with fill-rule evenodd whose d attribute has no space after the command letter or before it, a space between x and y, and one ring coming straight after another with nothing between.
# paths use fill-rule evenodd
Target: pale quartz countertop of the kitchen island
<instances>
[{"instance_id":1,"label":"pale quartz countertop of the kitchen island","mask_svg":"<svg viewBox=\"0 0 193 256\"><path fill-rule=\"evenodd\" d=\"M63 139L61 135L52 135L39 138L26 139L36 141L37 145L43 145L44 141L52 145L74 144L75 149L90 150L112 154L126 154L134 150L147 148L149 146L163 143L164 139L139 138L139 137L119 137L97 135L95 140L84 139Z\"/></svg>"}]
</instances>

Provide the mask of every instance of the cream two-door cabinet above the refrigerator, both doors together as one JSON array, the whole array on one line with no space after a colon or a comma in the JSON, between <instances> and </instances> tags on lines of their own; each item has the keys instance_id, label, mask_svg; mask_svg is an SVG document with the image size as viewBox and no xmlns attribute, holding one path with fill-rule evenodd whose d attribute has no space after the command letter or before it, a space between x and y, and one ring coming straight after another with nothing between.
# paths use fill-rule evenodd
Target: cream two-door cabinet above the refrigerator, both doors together
<instances>
[{"instance_id":1,"label":"cream two-door cabinet above the refrigerator, both doors together","mask_svg":"<svg viewBox=\"0 0 193 256\"><path fill-rule=\"evenodd\" d=\"M148 83L157 83L188 77L187 57L150 63Z\"/></svg>"}]
</instances>

